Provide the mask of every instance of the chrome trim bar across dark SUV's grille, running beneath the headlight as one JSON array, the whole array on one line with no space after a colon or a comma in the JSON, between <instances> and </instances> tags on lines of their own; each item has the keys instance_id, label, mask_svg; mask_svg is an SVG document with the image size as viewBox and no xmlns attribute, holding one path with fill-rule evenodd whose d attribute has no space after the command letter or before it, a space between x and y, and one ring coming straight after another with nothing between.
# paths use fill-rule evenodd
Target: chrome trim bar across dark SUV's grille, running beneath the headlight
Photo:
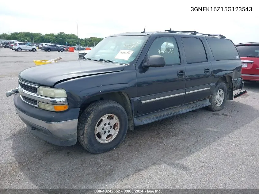
<instances>
[{"instance_id":1,"label":"chrome trim bar across dark SUV's grille, running beneath the headlight","mask_svg":"<svg viewBox=\"0 0 259 194\"><path fill-rule=\"evenodd\" d=\"M67 98L49 98L49 97L39 96L37 94L28 92L28 91L22 89L20 84L18 85L18 91L19 91L21 96L31 98L31 99L36 100L38 102L45 102L45 103L52 104L52 105L64 105L64 104L68 103ZM26 102L26 103L29 104L29 105L32 105L28 102ZM35 105L32 105L32 106L35 106ZM38 107L38 106L36 106L36 107Z\"/></svg>"}]
</instances>

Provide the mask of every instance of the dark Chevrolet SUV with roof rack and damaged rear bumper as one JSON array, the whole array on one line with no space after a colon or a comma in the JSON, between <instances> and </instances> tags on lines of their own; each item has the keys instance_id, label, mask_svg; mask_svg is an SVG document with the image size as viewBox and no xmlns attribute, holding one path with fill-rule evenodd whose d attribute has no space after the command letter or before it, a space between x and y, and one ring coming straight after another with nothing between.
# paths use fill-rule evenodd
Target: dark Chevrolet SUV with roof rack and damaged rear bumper
<instances>
[{"instance_id":1,"label":"dark Chevrolet SUV with roof rack and damaged rear bumper","mask_svg":"<svg viewBox=\"0 0 259 194\"><path fill-rule=\"evenodd\" d=\"M222 35L165 30L108 36L83 59L20 72L14 105L40 138L112 150L127 130L206 107L242 89L241 59ZM208 122L209 124L209 122Z\"/></svg>"}]
</instances>

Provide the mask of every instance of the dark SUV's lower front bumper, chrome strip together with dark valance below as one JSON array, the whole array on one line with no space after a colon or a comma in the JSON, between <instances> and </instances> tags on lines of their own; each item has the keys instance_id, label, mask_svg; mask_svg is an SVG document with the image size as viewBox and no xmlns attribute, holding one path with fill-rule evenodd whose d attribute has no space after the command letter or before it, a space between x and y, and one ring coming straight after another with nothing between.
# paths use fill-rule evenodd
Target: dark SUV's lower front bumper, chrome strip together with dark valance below
<instances>
[{"instance_id":1,"label":"dark SUV's lower front bumper, chrome strip together with dark valance below","mask_svg":"<svg viewBox=\"0 0 259 194\"><path fill-rule=\"evenodd\" d=\"M41 139L58 146L76 144L78 119L46 122L30 117L18 109L16 110L21 120L30 127L30 131Z\"/></svg>"}]
</instances>

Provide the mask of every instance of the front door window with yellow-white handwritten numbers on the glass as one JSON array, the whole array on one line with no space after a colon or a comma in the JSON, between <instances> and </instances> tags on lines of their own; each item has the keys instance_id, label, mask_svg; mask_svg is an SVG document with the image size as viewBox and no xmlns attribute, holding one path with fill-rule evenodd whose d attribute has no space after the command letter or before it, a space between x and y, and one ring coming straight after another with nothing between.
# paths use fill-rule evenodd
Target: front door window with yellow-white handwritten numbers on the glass
<instances>
[{"instance_id":1,"label":"front door window with yellow-white handwritten numbers on the glass","mask_svg":"<svg viewBox=\"0 0 259 194\"><path fill-rule=\"evenodd\" d=\"M174 37L156 38L147 52L148 58L151 55L163 56L165 58L166 65L181 63L178 47Z\"/></svg>"}]
</instances>

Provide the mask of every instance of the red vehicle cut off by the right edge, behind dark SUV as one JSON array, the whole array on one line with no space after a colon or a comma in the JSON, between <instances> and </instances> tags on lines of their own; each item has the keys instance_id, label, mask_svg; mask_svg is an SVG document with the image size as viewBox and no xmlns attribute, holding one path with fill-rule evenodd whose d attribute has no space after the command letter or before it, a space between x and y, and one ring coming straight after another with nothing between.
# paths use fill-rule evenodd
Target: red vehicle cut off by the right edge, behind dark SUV
<instances>
[{"instance_id":1,"label":"red vehicle cut off by the right edge, behind dark SUV","mask_svg":"<svg viewBox=\"0 0 259 194\"><path fill-rule=\"evenodd\" d=\"M259 81L259 42L236 44L242 59L242 78L246 81Z\"/></svg>"}]
</instances>

